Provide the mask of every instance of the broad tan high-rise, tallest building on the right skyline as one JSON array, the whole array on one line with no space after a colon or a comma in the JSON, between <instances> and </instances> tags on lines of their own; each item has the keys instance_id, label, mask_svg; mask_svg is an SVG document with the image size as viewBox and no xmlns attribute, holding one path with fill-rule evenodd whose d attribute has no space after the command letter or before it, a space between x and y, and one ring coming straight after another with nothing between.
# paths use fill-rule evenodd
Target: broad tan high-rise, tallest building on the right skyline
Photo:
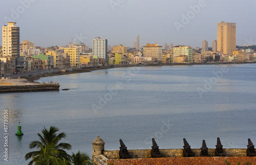
<instances>
[{"instance_id":1,"label":"broad tan high-rise, tallest building on the right skyline","mask_svg":"<svg viewBox=\"0 0 256 165\"><path fill-rule=\"evenodd\" d=\"M231 55L236 50L236 23L218 23L217 50Z\"/></svg>"}]
</instances>

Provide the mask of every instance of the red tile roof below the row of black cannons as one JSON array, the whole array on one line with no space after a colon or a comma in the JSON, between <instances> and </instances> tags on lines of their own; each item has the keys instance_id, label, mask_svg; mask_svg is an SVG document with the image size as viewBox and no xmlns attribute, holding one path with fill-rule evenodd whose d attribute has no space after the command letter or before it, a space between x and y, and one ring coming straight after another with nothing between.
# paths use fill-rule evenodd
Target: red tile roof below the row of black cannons
<instances>
[{"instance_id":1,"label":"red tile roof below the row of black cannons","mask_svg":"<svg viewBox=\"0 0 256 165\"><path fill-rule=\"evenodd\" d=\"M241 162L241 165L251 162L256 165L256 157L163 157L141 159L109 159L108 164L120 165L224 165L225 160L231 164Z\"/></svg>"}]
</instances>

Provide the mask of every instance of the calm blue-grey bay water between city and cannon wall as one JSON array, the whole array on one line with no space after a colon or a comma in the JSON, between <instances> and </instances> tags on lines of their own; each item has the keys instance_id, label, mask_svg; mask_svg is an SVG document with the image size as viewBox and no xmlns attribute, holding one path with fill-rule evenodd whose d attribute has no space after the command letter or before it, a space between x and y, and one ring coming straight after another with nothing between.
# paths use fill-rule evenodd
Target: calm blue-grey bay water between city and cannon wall
<instances>
[{"instance_id":1,"label":"calm blue-grey bay water between city and cannon wall","mask_svg":"<svg viewBox=\"0 0 256 165\"><path fill-rule=\"evenodd\" d=\"M256 144L255 64L114 68L38 81L50 80L70 90L0 94L0 133L6 108L10 133L9 161L1 156L0 164L27 164L29 143L51 125L67 133L72 152L90 155L97 135L106 150L118 150L119 139L127 149L151 149L152 137L162 149L182 148L184 137L192 148L203 139L215 148L217 137L224 148ZM3 138L0 146L3 154Z\"/></svg>"}]
</instances>

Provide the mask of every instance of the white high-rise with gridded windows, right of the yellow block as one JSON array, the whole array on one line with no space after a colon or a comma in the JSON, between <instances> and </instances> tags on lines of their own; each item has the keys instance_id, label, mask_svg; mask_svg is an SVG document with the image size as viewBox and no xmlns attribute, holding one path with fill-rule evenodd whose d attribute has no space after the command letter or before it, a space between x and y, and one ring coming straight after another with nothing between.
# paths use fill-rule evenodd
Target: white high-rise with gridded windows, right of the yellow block
<instances>
[{"instance_id":1,"label":"white high-rise with gridded windows, right of the yellow block","mask_svg":"<svg viewBox=\"0 0 256 165\"><path fill-rule=\"evenodd\" d=\"M108 55L108 40L96 37L93 39L93 55L101 59L107 59Z\"/></svg>"}]
</instances>

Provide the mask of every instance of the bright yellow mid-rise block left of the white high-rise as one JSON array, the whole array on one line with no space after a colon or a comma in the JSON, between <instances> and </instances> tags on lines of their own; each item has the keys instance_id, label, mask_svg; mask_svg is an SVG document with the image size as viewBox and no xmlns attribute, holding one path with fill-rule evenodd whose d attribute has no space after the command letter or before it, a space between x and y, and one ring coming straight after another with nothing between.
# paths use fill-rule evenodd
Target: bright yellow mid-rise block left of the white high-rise
<instances>
[{"instance_id":1,"label":"bright yellow mid-rise block left of the white high-rise","mask_svg":"<svg viewBox=\"0 0 256 165\"><path fill-rule=\"evenodd\" d=\"M80 67L80 48L79 47L70 47L64 49L65 53L68 53L70 56L71 67Z\"/></svg>"}]
</instances>

